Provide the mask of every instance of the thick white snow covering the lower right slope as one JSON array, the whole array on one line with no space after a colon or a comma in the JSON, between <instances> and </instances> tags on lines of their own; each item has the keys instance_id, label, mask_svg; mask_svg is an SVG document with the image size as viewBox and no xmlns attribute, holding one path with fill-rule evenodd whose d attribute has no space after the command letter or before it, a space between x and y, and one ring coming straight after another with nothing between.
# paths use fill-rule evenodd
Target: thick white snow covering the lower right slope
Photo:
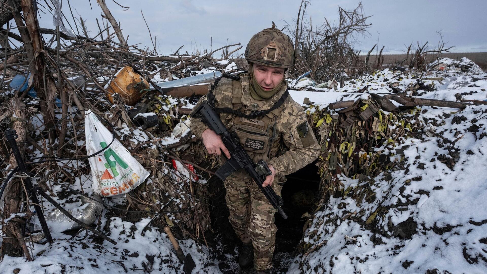
<instances>
[{"instance_id":1,"label":"thick white snow covering the lower right slope","mask_svg":"<svg viewBox=\"0 0 487 274\"><path fill-rule=\"evenodd\" d=\"M444 109L434 110L429 107L427 109L428 116L436 116L444 112ZM487 106L472 107L460 111L456 115L473 118L474 110L487 111ZM445 118L445 120L446 123L443 126L434 129L435 133L450 131L451 119ZM485 254L485 251L482 251L482 248L485 249L485 245L479 240L486 236L486 228L483 227L485 225L474 225L469 221L482 222L487 219L487 211L483 210L482 206L478 207L484 203L487 195L486 179L484 176L472 176L487 168L484 156L487 153L487 139L475 141L475 135L467 131L468 126L469 124L455 125L455 130L461 131L465 136L455 145L462 151L458 167L455 166L454 170L450 170L434 156L435 152L448 153L438 149L437 137L427 138L427 141L424 142L416 139L411 140L414 145L405 151L405 156L409 158L409 171L395 171L392 173L391 182L379 180L373 186L377 196L387 195L388 198L377 197L376 200L382 201L382 204L373 204L374 209L370 210L371 212L378 206L394 205L399 198L403 199L408 194L412 195L409 199L419 198L416 203L407 206L406 211L397 211L391 206L390 212L386 214L386 216L392 217L394 225L412 216L418 223L418 233L413 235L412 239L383 237L384 245L374 245L370 240L373 233L353 221L341 222L334 231L330 231L331 228L312 226L308 232L322 230L322 233L318 233L313 239L314 242L326 240L327 243L316 253L297 258L289 273L302 273L298 263L309 265L310 272L308 273L316 273L313 271L316 266L320 266L318 269L335 270L340 273L425 273L431 268L448 270L451 273L485 273L486 262L482 262L481 257L478 256ZM481 133L482 131L477 135ZM445 135L453 138L453 134L454 131ZM468 155L468 151L472 151L474 154ZM416 156L420 156L420 161L426 164L426 169L415 167ZM418 176L421 176L422 179L412 180L410 185L404 184L405 180ZM402 193L399 190L400 186L405 186ZM442 186L442 189L435 190L438 188L436 186ZM419 190L429 193L428 195L415 195ZM340 216L336 205L342 202L347 203L347 206L341 210L342 212L358 212L366 209L364 207L366 205L357 206L355 201L350 198L332 197L330 205L321 216L329 216L330 213ZM434 227L446 226L454 228L443 235L434 232ZM351 242L345 239L345 235L360 235L361 240ZM309 241L312 240L309 236L308 238ZM398 246L398 248L393 248L394 246ZM472 257L478 257L479 263L470 264L464 258L464 252ZM358 262L365 257L368 259L362 263ZM354 259L351 260L351 258ZM407 269L402 265L406 260L413 262ZM332 261L333 266L330 263Z\"/></svg>"}]
</instances>

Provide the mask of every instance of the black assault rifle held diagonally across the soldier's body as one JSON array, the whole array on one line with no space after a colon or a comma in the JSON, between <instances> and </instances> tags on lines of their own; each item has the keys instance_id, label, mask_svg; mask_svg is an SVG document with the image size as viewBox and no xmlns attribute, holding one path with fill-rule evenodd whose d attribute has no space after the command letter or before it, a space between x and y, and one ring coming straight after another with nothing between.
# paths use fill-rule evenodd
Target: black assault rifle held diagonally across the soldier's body
<instances>
[{"instance_id":1,"label":"black assault rifle held diagonally across the soldier's body","mask_svg":"<svg viewBox=\"0 0 487 274\"><path fill-rule=\"evenodd\" d=\"M284 219L287 219L287 215L282 210L282 198L278 196L272 187L262 187L262 183L265 177L272 175L267 163L260 160L257 164L250 159L244 147L240 143L240 138L235 133L230 133L225 125L220 120L218 114L213 110L213 107L209 104L207 95L202 98L202 104L195 109L196 116L202 117L208 127L216 134L222 137L223 144L230 152L230 159L216 171L216 176L222 181L225 181L226 177L235 171L244 168L245 171L252 177L257 186L261 189L267 200L271 205L279 211Z\"/></svg>"}]
</instances>

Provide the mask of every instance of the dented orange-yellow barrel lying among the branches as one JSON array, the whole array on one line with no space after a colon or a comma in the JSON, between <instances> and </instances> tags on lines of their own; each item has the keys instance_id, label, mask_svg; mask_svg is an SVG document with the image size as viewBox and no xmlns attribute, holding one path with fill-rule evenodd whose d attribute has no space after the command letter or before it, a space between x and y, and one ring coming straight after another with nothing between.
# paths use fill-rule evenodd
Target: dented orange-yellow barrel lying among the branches
<instances>
[{"instance_id":1,"label":"dented orange-yellow barrel lying among the branches","mask_svg":"<svg viewBox=\"0 0 487 274\"><path fill-rule=\"evenodd\" d=\"M113 94L116 93L129 106L134 106L148 89L149 82L128 66L119 70L106 88L107 98L111 103L113 103Z\"/></svg>"}]
</instances>

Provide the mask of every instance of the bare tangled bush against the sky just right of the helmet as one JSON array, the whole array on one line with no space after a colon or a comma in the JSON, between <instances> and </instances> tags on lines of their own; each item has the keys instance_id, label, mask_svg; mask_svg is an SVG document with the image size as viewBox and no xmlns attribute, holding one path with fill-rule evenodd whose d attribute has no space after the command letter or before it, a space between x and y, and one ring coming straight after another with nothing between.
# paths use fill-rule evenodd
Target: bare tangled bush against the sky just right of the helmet
<instances>
[{"instance_id":1,"label":"bare tangled bush against the sky just right of the helmet","mask_svg":"<svg viewBox=\"0 0 487 274\"><path fill-rule=\"evenodd\" d=\"M356 37L367 34L367 28L371 25L367 23L369 16L364 15L362 4L350 10L338 7L337 23L331 23L325 18L318 26L313 26L311 17L309 20L304 17L309 4L310 1L301 1L295 28L291 29L289 24L284 27L295 39L295 45L300 51L300 58L296 68L291 71L291 77L312 71L311 78L324 82L340 78L345 71L361 73L364 63L359 60L359 52L353 46Z\"/></svg>"}]
</instances>

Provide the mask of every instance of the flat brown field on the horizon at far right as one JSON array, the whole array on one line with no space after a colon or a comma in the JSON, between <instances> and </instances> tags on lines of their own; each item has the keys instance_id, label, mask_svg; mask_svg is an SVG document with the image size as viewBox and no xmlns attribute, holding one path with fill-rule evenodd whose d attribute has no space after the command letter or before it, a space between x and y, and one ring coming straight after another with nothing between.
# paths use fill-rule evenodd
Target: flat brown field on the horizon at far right
<instances>
[{"instance_id":1,"label":"flat brown field on the horizon at far right","mask_svg":"<svg viewBox=\"0 0 487 274\"><path fill-rule=\"evenodd\" d=\"M386 54L383 56L384 56L384 65L395 64L396 62L406 59L405 54ZM440 58L441 57L448 57L451 59L458 59L458 60L460 60L462 57L467 57L468 59L474 61L477 65L479 65L484 70L487 69L487 52L447 53L447 54L440 55ZM360 56L360 58L365 61L367 56L362 55ZM434 59L436 59L436 55L429 54L426 56L426 59L428 62L432 62ZM377 61L377 56L371 55L369 59L369 63L375 63L376 61Z\"/></svg>"}]
</instances>

